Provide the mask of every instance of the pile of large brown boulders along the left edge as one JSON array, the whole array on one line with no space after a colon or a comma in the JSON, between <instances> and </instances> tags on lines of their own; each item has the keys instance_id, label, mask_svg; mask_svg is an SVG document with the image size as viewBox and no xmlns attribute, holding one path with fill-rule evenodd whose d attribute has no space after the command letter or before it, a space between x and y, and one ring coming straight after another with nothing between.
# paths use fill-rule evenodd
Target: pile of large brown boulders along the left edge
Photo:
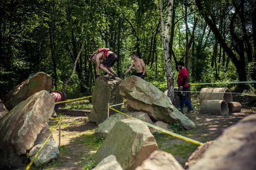
<instances>
[{"instance_id":1,"label":"pile of large brown boulders along the left edge","mask_svg":"<svg viewBox=\"0 0 256 170\"><path fill-rule=\"evenodd\" d=\"M4 97L4 104L0 103L1 110L4 106L10 109L0 119L0 169L20 166L26 153L32 160L51 133L47 120L55 103L49 89L51 76L38 72L11 90ZM39 166L58 155L58 146L51 137L34 163Z\"/></svg>"}]
</instances>

